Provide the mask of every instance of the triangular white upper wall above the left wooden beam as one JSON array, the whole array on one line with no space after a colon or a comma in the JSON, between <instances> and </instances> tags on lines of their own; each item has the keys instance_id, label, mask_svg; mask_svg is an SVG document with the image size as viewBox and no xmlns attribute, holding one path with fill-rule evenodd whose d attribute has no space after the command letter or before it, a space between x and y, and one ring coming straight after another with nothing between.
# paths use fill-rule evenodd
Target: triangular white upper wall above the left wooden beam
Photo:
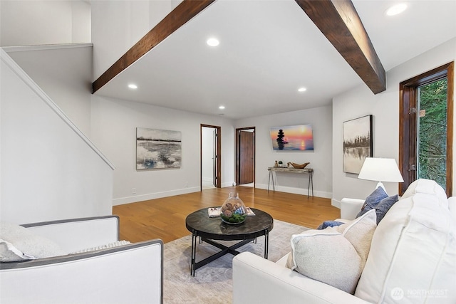
<instances>
[{"instance_id":1,"label":"triangular white upper wall above the left wooden beam","mask_svg":"<svg viewBox=\"0 0 456 304\"><path fill-rule=\"evenodd\" d=\"M181 0L91 1L93 80L115 63Z\"/></svg>"}]
</instances>

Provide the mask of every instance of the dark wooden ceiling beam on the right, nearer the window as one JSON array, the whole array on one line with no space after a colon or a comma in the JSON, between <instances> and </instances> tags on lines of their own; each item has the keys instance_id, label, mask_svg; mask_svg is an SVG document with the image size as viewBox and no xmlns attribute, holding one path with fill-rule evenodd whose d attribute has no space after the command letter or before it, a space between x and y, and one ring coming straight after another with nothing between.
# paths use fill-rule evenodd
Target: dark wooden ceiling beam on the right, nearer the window
<instances>
[{"instance_id":1,"label":"dark wooden ceiling beam on the right, nearer the window","mask_svg":"<svg viewBox=\"0 0 456 304\"><path fill-rule=\"evenodd\" d=\"M351 0L296 0L324 36L374 94L386 90L386 76Z\"/></svg>"}]
</instances>

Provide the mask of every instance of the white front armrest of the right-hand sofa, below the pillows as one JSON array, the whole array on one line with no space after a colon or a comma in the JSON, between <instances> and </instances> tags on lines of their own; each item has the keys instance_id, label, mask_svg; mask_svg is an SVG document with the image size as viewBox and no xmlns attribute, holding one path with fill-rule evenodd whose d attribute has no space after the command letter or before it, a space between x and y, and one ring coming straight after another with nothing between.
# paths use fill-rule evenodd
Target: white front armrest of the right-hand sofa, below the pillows
<instances>
[{"instance_id":1,"label":"white front armrest of the right-hand sofa, below the pillows","mask_svg":"<svg viewBox=\"0 0 456 304\"><path fill-rule=\"evenodd\" d=\"M233 304L364 303L354 295L244 252L233 258Z\"/></svg>"}]
</instances>

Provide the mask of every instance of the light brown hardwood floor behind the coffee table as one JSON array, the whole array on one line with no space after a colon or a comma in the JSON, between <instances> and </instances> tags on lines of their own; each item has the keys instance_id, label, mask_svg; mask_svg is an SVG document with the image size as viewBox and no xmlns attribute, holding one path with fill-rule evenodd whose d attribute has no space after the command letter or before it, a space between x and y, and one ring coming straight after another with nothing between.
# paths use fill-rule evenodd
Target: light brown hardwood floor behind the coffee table
<instances>
[{"instance_id":1,"label":"light brown hardwood floor behind the coffee table","mask_svg":"<svg viewBox=\"0 0 456 304\"><path fill-rule=\"evenodd\" d=\"M340 210L331 206L331 199L311 196L307 199L306 195L252 187L226 187L113 206L113 214L120 216L120 239L131 242L162 239L165 243L180 239L190 234L185 228L188 214L222 206L229 192L238 192L246 206L266 211L274 219L309 228L340 217Z\"/></svg>"}]
</instances>

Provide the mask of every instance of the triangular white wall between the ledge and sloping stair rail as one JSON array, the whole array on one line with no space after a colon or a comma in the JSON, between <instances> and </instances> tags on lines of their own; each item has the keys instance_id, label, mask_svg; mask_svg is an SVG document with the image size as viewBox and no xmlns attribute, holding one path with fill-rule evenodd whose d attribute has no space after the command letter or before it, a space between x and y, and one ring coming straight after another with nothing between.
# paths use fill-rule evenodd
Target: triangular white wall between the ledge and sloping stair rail
<instances>
[{"instance_id":1,"label":"triangular white wall between the ledge and sloping stair rail","mask_svg":"<svg viewBox=\"0 0 456 304\"><path fill-rule=\"evenodd\" d=\"M4 50L89 136L92 45L24 46Z\"/></svg>"}]
</instances>

